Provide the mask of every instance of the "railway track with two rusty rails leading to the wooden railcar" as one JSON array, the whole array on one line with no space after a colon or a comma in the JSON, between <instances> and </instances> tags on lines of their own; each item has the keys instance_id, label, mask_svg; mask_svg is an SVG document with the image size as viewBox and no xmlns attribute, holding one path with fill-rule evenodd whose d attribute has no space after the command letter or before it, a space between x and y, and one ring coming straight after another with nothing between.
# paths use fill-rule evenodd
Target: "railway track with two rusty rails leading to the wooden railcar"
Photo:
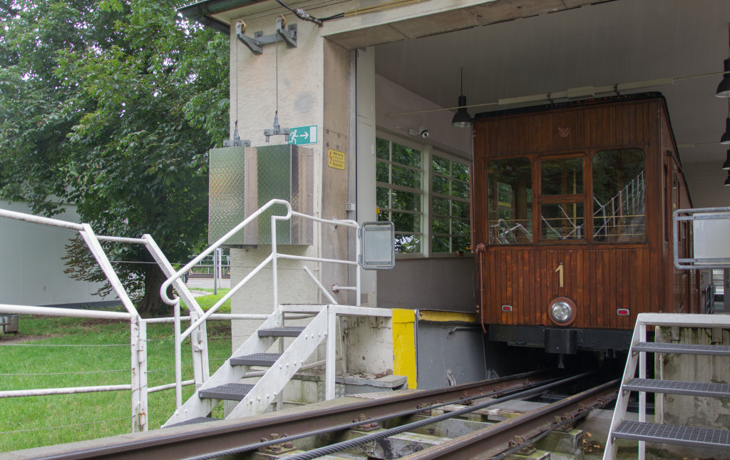
<instances>
[{"instance_id":1,"label":"railway track with two rusty rails leading to the wooden railcar","mask_svg":"<svg viewBox=\"0 0 730 460\"><path fill-rule=\"evenodd\" d=\"M489 407L528 399L585 379L529 372L431 391L346 397L242 421L178 426L63 446L20 459L491 459L515 439L529 440L610 402L618 383L605 383L499 423L476 421ZM368 399L372 398L372 399ZM286 434L284 434L286 433ZM520 442L517 442L520 444ZM61 448L61 446L55 446ZM28 451L29 454L32 451Z\"/></svg>"}]
</instances>

